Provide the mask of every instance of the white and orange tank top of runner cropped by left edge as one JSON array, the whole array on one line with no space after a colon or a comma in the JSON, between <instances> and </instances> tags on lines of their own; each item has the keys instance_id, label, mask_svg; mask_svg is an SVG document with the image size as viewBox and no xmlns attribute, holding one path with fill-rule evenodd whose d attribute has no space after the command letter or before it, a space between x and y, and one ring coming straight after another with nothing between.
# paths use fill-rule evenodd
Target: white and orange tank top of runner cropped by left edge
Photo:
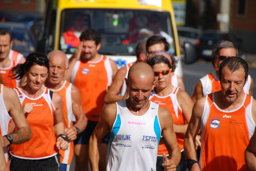
<instances>
[{"instance_id":1,"label":"white and orange tank top of runner cropped by left edge","mask_svg":"<svg viewBox=\"0 0 256 171\"><path fill-rule=\"evenodd\" d=\"M12 119L12 117L10 117L7 109L6 109L6 106L4 104L4 101L3 101L3 84L0 84L1 86L1 91L0 91L0 126L1 126L1 135L6 135L9 133L9 123L10 123L10 120ZM5 158L6 158L6 162L7 162L7 159L8 159L8 154L7 154L7 148L3 148L3 151L4 151L4 155L5 155Z\"/></svg>"}]
</instances>

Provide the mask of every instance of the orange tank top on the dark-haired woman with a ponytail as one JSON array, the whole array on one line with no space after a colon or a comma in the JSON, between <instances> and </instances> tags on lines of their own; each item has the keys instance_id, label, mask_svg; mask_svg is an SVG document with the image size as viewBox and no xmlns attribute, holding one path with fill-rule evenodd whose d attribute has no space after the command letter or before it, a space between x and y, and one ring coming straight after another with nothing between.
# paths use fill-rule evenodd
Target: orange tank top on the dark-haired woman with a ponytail
<instances>
[{"instance_id":1,"label":"orange tank top on the dark-haired woman with a ponytail","mask_svg":"<svg viewBox=\"0 0 256 171\"><path fill-rule=\"evenodd\" d=\"M27 97L15 88L21 105L30 103L34 105L32 112L26 114L26 120L31 128L32 137L29 141L10 146L10 153L21 159L38 160L55 156L56 136L54 131L54 111L49 89L45 88L44 93L35 99ZM15 128L16 130L16 128Z\"/></svg>"}]
</instances>

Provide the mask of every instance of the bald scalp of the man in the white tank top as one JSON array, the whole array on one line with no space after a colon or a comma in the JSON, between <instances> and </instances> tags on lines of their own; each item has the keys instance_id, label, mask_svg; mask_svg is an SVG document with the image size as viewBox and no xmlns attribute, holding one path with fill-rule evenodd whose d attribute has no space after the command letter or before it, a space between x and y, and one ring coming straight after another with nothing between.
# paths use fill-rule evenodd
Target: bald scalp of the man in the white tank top
<instances>
[{"instance_id":1,"label":"bald scalp of the man in the white tank top","mask_svg":"<svg viewBox=\"0 0 256 171\"><path fill-rule=\"evenodd\" d=\"M131 80L131 78L140 79L141 81L148 78L152 80L153 84L154 71L147 63L135 63L128 71L128 80Z\"/></svg>"}]
</instances>

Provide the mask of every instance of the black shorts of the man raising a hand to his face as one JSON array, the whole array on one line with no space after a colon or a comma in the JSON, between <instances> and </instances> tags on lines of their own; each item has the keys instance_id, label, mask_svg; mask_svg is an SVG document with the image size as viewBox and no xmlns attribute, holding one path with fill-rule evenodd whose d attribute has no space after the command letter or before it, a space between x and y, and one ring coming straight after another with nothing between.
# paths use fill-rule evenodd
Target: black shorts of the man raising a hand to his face
<instances>
[{"instance_id":1,"label":"black shorts of the man raising a hand to his face","mask_svg":"<svg viewBox=\"0 0 256 171\"><path fill-rule=\"evenodd\" d=\"M85 130L77 136L76 140L74 140L74 144L75 145L76 144L89 144L90 136L92 135L97 123L98 122L88 120ZM75 122L73 122L73 125L75 125ZM108 132L108 134L106 134L102 138L102 143L108 144L109 140L110 140L110 133Z\"/></svg>"}]
</instances>

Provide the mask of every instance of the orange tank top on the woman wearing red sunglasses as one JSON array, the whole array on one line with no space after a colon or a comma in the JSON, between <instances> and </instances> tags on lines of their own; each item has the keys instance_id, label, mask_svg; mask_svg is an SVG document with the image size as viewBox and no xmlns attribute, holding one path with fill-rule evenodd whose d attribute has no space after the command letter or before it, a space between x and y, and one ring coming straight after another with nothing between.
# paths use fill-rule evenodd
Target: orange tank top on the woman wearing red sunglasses
<instances>
[{"instance_id":1,"label":"orange tank top on the woman wearing red sunglasses","mask_svg":"<svg viewBox=\"0 0 256 171\"><path fill-rule=\"evenodd\" d=\"M164 108L167 108L170 113L172 114L173 123L176 125L184 125L185 124L185 117L182 113L182 110L180 108L180 105L177 101L177 91L179 87L174 87L171 94L167 96L158 96L154 92L151 94L150 101L159 104L160 106L163 106ZM177 136L177 142L179 144L180 150L184 150L183 142L184 142L184 134L176 133ZM168 150L166 149L165 144L163 143L163 140L160 139L159 146L158 146L158 152L157 155L163 156L163 154L168 154Z\"/></svg>"}]
</instances>

